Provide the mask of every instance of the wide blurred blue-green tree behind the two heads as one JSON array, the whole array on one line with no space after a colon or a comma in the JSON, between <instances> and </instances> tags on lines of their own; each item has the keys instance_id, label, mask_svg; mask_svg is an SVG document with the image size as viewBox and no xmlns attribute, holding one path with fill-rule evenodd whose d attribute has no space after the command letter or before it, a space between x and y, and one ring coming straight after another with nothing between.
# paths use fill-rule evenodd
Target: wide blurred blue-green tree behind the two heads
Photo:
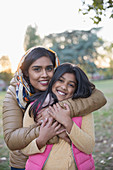
<instances>
[{"instance_id":1,"label":"wide blurred blue-green tree behind the two heads","mask_svg":"<svg viewBox=\"0 0 113 170\"><path fill-rule=\"evenodd\" d=\"M96 35L100 29L50 34L44 38L44 44L58 53L61 63L78 64L85 71L93 74L97 69L94 63L98 56L97 48L103 44L103 41Z\"/></svg>"}]
</instances>

